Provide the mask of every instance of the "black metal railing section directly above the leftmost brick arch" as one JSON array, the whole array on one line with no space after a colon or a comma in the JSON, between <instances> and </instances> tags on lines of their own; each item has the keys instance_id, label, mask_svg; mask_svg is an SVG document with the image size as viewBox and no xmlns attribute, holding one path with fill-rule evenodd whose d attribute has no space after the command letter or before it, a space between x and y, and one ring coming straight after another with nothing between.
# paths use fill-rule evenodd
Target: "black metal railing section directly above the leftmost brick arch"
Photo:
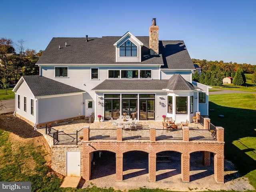
<instances>
[{"instance_id":1,"label":"black metal railing section directly above the leftmost brick arch","mask_svg":"<svg viewBox=\"0 0 256 192\"><path fill-rule=\"evenodd\" d=\"M116 129L90 129L89 140L116 139Z\"/></svg>"}]
</instances>

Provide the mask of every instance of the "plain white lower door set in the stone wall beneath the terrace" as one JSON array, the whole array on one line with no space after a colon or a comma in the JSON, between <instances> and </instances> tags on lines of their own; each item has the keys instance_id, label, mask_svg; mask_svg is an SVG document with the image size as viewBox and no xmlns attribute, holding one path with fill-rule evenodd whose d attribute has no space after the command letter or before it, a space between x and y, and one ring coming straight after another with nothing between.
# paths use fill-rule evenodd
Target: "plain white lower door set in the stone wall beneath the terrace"
<instances>
[{"instance_id":1,"label":"plain white lower door set in the stone wall beneath the terrace","mask_svg":"<svg viewBox=\"0 0 256 192\"><path fill-rule=\"evenodd\" d=\"M80 151L67 151L67 176L80 176Z\"/></svg>"}]
</instances>

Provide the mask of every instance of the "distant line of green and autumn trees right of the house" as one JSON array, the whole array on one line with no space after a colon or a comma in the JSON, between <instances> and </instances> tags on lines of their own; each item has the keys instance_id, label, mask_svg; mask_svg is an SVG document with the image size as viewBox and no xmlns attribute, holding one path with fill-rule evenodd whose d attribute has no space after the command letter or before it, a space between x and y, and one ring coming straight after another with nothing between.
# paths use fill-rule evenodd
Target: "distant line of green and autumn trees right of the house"
<instances>
[{"instance_id":1,"label":"distant line of green and autumn trees right of the house","mask_svg":"<svg viewBox=\"0 0 256 192\"><path fill-rule=\"evenodd\" d=\"M223 78L232 77L234 85L243 85L246 82L244 74L253 74L252 83L256 85L256 66L251 64L238 64L236 62L207 61L192 59L202 70L192 75L192 80L210 86L222 86Z\"/></svg>"}]
</instances>

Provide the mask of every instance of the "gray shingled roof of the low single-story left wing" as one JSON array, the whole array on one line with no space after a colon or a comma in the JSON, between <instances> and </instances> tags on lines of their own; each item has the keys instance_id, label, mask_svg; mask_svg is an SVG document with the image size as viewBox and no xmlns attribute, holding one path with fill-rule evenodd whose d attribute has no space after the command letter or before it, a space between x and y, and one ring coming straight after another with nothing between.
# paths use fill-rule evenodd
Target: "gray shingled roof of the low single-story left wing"
<instances>
[{"instance_id":1,"label":"gray shingled roof of the low single-story left wing","mask_svg":"<svg viewBox=\"0 0 256 192\"><path fill-rule=\"evenodd\" d=\"M43 76L22 77L35 97L84 92L84 90L74 88Z\"/></svg>"}]
</instances>

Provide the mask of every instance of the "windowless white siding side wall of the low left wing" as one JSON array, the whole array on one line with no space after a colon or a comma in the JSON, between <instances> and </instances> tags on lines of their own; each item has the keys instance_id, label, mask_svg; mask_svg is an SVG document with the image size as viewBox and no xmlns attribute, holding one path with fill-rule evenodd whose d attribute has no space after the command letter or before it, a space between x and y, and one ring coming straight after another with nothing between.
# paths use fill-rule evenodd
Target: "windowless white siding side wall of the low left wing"
<instances>
[{"instance_id":1,"label":"windowless white siding side wall of the low left wing","mask_svg":"<svg viewBox=\"0 0 256 192\"><path fill-rule=\"evenodd\" d=\"M38 99L38 124L82 115L82 94Z\"/></svg>"}]
</instances>

